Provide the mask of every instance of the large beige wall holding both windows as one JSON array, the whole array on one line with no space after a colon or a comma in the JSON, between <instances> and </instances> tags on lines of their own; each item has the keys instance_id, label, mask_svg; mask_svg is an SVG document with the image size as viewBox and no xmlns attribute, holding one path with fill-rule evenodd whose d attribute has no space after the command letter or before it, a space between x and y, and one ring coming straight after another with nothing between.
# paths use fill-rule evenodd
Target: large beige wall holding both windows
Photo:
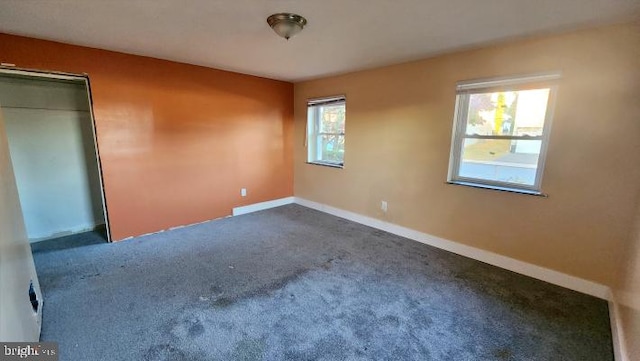
<instances>
[{"instance_id":1,"label":"large beige wall holding both windows","mask_svg":"<svg viewBox=\"0 0 640 361\"><path fill-rule=\"evenodd\" d=\"M639 69L639 27L623 24L296 84L294 193L612 285L640 191ZM563 72L549 198L445 184L456 82L542 71ZM306 99L335 94L345 168L305 164Z\"/></svg>"}]
</instances>

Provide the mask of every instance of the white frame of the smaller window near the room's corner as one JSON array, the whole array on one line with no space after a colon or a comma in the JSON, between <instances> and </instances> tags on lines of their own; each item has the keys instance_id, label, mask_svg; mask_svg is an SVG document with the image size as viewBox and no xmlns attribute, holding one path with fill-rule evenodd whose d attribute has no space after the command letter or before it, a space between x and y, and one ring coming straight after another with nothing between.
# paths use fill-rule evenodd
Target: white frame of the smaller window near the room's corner
<instances>
[{"instance_id":1,"label":"white frame of the smaller window near the room's corner","mask_svg":"<svg viewBox=\"0 0 640 361\"><path fill-rule=\"evenodd\" d=\"M338 135L345 138L345 133L327 133L320 132L320 108L328 105L344 105L345 114L347 106L347 98L344 95L336 95L331 97L315 98L307 100L307 134L305 146L307 147L307 163L324 165L334 168L344 168L344 155L342 162L332 162L321 160L322 154L322 136ZM345 115L346 127L346 115ZM315 154L314 154L315 153Z\"/></svg>"}]
</instances>

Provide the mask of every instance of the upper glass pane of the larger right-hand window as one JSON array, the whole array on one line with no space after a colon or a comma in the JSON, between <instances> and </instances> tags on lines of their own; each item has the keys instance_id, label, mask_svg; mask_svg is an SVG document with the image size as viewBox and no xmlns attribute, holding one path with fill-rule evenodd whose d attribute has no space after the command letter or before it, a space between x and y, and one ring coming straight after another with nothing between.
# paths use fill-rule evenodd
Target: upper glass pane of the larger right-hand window
<instances>
[{"instance_id":1,"label":"upper glass pane of the larger right-hand window","mask_svg":"<svg viewBox=\"0 0 640 361\"><path fill-rule=\"evenodd\" d=\"M469 95L466 134L542 135L549 88Z\"/></svg>"}]
</instances>

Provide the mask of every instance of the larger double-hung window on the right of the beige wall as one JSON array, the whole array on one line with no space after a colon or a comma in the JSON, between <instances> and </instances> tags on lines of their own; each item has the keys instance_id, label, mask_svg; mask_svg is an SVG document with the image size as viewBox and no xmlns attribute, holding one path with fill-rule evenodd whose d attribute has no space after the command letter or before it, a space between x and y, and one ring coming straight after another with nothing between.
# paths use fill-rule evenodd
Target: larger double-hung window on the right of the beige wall
<instances>
[{"instance_id":1,"label":"larger double-hung window on the right of the beige wall","mask_svg":"<svg viewBox=\"0 0 640 361\"><path fill-rule=\"evenodd\" d=\"M449 182L542 195L559 74L457 86Z\"/></svg>"}]
</instances>

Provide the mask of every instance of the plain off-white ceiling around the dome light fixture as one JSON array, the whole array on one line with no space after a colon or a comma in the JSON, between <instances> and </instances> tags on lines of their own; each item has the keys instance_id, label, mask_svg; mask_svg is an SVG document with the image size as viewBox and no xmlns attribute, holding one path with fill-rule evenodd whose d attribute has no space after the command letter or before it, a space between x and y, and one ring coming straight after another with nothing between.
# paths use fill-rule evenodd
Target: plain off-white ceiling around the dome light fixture
<instances>
[{"instance_id":1,"label":"plain off-white ceiling around the dome light fixture","mask_svg":"<svg viewBox=\"0 0 640 361\"><path fill-rule=\"evenodd\" d=\"M286 41L276 12L309 23ZM639 0L3 0L0 32L300 81L638 14Z\"/></svg>"}]
</instances>

